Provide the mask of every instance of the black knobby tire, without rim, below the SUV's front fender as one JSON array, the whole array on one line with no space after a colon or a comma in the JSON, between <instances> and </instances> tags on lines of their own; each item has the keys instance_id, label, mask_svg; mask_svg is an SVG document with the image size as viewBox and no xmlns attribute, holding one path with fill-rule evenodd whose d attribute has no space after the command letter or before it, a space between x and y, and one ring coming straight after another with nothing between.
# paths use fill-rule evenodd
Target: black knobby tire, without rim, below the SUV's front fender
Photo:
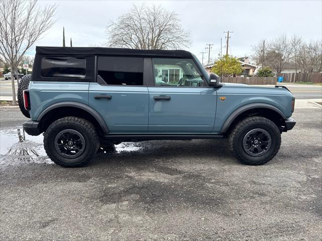
<instances>
[{"instance_id":1,"label":"black knobby tire, without rim, below the SUV's front fender","mask_svg":"<svg viewBox=\"0 0 322 241\"><path fill-rule=\"evenodd\" d=\"M262 156L251 156L243 148L243 138L251 130L261 128L271 136L271 147ZM281 133L278 127L271 120L253 116L241 120L228 135L229 149L232 154L243 164L263 165L268 163L277 154L281 146Z\"/></svg>"}]
</instances>

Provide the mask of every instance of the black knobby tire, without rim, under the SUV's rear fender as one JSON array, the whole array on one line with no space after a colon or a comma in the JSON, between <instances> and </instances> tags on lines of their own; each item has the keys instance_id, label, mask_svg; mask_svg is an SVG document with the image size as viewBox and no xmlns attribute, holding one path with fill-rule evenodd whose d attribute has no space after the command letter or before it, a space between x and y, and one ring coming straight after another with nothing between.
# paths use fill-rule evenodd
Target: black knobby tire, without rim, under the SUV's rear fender
<instances>
[{"instance_id":1,"label":"black knobby tire, without rim, under the SUV's rear fender","mask_svg":"<svg viewBox=\"0 0 322 241\"><path fill-rule=\"evenodd\" d=\"M84 152L75 158L61 156L55 148L56 135L66 129L75 130L81 133L85 139ZM93 158L98 148L100 140L93 124L78 117L64 117L53 122L44 133L44 148L49 158L57 165L66 168L83 167Z\"/></svg>"}]
</instances>

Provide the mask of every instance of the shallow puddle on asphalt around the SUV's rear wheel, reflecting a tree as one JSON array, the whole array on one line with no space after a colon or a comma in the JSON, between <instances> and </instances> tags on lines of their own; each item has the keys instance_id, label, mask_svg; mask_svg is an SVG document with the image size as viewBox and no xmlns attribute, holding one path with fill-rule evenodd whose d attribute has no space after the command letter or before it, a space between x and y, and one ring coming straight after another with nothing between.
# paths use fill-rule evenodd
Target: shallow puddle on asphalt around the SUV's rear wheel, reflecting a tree
<instances>
[{"instance_id":1,"label":"shallow puddle on asphalt around the SUV's rear wheel, reflecting a tree","mask_svg":"<svg viewBox=\"0 0 322 241\"><path fill-rule=\"evenodd\" d=\"M53 164L46 155L43 135L28 135L22 127L0 130L0 166L15 166L24 163ZM107 152L131 152L142 147L137 143L123 142L112 146ZM104 151L104 153L107 153Z\"/></svg>"}]
</instances>

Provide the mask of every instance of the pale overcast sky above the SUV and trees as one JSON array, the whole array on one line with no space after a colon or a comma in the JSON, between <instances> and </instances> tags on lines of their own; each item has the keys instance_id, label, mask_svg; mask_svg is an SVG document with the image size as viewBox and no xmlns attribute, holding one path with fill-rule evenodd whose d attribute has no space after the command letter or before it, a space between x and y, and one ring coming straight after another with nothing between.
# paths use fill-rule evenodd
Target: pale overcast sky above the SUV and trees
<instances>
[{"instance_id":1,"label":"pale overcast sky above the SUV and trees","mask_svg":"<svg viewBox=\"0 0 322 241\"><path fill-rule=\"evenodd\" d=\"M220 52L220 38L225 51L224 31L233 31L228 53L251 55L252 45L269 41L280 34L294 34L303 40L322 38L322 1L39 1L56 4L55 25L39 40L39 46L61 46L65 27L66 46L72 38L74 47L107 42L105 28L133 4L161 5L179 15L186 30L192 33L192 45L187 48L201 60L206 44L213 44L211 56ZM29 54L34 54L33 48ZM204 62L206 61L206 56Z\"/></svg>"}]
</instances>

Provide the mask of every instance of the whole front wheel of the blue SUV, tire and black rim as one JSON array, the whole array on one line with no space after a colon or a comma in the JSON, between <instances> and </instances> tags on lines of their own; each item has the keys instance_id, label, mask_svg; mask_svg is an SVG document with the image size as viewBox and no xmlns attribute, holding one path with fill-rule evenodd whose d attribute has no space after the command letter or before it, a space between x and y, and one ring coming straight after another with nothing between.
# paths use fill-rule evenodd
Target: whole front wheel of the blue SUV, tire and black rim
<instances>
[{"instance_id":1,"label":"whole front wheel of the blue SUV, tire and black rim","mask_svg":"<svg viewBox=\"0 0 322 241\"><path fill-rule=\"evenodd\" d=\"M232 154L247 165L268 163L277 154L281 145L281 134L271 120L248 117L233 128L228 136Z\"/></svg>"}]
</instances>

